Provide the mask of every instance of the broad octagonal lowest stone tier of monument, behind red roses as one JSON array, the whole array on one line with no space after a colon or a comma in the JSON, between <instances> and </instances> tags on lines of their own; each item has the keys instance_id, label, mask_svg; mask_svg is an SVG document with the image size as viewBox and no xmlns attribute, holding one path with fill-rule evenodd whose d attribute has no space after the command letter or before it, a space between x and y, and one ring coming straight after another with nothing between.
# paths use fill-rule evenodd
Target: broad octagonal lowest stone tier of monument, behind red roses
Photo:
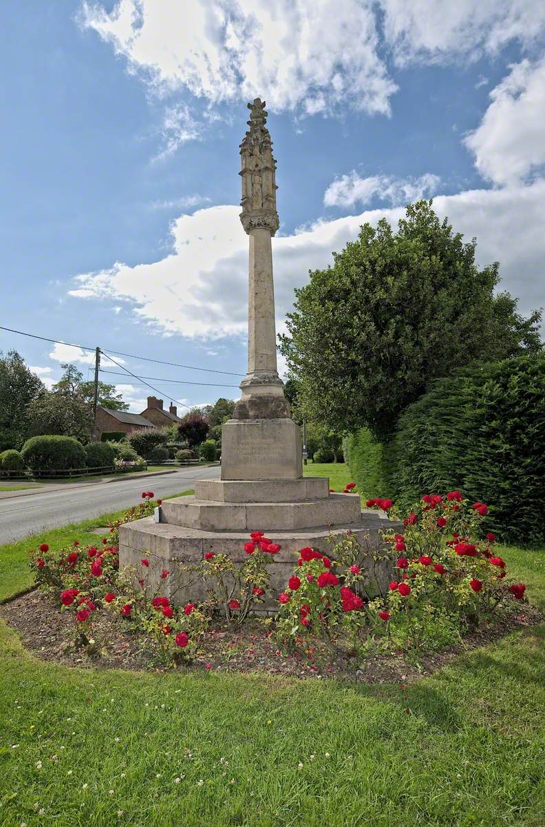
<instances>
[{"instance_id":1,"label":"broad octagonal lowest stone tier of monument, behind red roses","mask_svg":"<svg viewBox=\"0 0 545 827\"><path fill-rule=\"evenodd\" d=\"M268 566L269 583L273 596L262 605L264 612L277 609L277 595L286 588L287 581L296 566L302 547L311 546L327 554L333 551L334 539L351 531L361 545L359 565L367 571L370 581L385 588L391 580L390 563L381 558L385 548L382 530L399 528L400 523L389 520L386 514L376 511L363 511L358 523L337 525L334 528L320 526L301 528L291 531L267 532L274 543L282 550L274 555ZM183 528L170 523L155 523L153 517L145 517L134 523L120 526L119 558L121 568L134 566L142 573L140 559L148 557L149 567L145 571L148 585L152 590L170 598L173 605L185 605L188 602L206 600L207 587L204 581L193 582L187 586L187 575L182 566L196 564L206 552L229 555L235 562L243 563L247 559L244 543L248 541L247 531L207 531L200 528ZM374 557L378 555L377 562ZM163 569L171 572L166 580L161 580Z\"/></svg>"}]
</instances>

